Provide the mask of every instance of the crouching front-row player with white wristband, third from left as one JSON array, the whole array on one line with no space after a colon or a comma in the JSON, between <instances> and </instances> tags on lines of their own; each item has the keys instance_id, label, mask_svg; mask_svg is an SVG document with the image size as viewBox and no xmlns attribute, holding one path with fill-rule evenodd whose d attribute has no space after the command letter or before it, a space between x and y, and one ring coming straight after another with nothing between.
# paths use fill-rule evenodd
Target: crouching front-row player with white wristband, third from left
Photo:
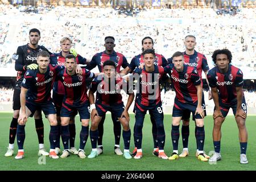
<instances>
[{"instance_id":1,"label":"crouching front-row player with white wristband, third from left","mask_svg":"<svg viewBox=\"0 0 256 182\"><path fill-rule=\"evenodd\" d=\"M116 63L112 60L106 60L103 63L104 75L94 78L92 86L89 90L89 101L91 108L92 126L90 127L90 139L92 143L92 152L88 158L95 158L97 153L97 138L98 138L98 124L101 122L102 116L107 111L115 113L118 121L121 122L123 127L123 141L125 149L123 156L126 159L131 159L130 155L130 138L131 130L129 126L130 117L128 114L129 107L134 99L133 84L127 84L122 78L115 78ZM129 94L126 107L123 105L121 89ZM94 92L96 92L96 102L94 104Z\"/></svg>"}]
</instances>

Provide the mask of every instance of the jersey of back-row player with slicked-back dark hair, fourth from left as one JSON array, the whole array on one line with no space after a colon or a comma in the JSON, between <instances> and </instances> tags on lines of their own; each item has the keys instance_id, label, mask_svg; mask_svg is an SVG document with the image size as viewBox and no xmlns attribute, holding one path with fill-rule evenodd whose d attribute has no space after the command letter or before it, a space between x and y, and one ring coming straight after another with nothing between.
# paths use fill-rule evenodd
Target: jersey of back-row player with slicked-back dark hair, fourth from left
<instances>
[{"instance_id":1,"label":"jersey of back-row player with slicked-back dark hair, fourth from left","mask_svg":"<svg viewBox=\"0 0 256 182\"><path fill-rule=\"evenodd\" d=\"M139 67L139 64L144 63L143 55L134 56L129 64L129 68L133 72L135 68ZM155 54L155 65L159 67L166 67L168 65L168 61L163 55L159 55L158 53Z\"/></svg>"}]
</instances>

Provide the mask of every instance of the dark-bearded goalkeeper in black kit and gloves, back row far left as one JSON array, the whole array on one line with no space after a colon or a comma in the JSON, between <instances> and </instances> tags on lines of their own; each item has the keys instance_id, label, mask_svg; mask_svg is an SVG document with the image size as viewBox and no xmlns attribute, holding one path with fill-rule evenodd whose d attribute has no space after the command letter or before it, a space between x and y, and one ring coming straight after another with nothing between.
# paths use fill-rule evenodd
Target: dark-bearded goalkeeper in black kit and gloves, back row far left
<instances>
[{"instance_id":1,"label":"dark-bearded goalkeeper in black kit and gloves, back row far left","mask_svg":"<svg viewBox=\"0 0 256 182\"><path fill-rule=\"evenodd\" d=\"M10 134L9 134L9 147L5 156L12 156L14 153L14 140L16 136L16 130L18 126L18 118L20 111L20 89L21 83L24 77L24 73L27 69L37 68L36 56L40 51L47 51L45 47L39 46L38 42L40 40L40 31L36 28L32 28L29 32L30 43L19 46L16 52L15 70L18 71L14 94L13 94L13 120L10 124ZM49 54L51 54L49 52ZM42 119L41 110L35 111L35 127L36 133L38 134L39 151L38 155L49 155L48 152L44 150L44 124Z\"/></svg>"}]
</instances>

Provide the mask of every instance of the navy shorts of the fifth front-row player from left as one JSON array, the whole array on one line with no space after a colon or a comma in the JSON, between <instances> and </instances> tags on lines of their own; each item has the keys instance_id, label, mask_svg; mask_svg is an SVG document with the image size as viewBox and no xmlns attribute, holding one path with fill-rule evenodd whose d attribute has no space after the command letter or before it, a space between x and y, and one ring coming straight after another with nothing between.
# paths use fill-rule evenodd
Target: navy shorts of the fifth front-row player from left
<instances>
[{"instance_id":1,"label":"navy shorts of the fifth front-row player from left","mask_svg":"<svg viewBox=\"0 0 256 182\"><path fill-rule=\"evenodd\" d=\"M197 101L195 103L193 102L180 102L179 100L177 100L177 98L175 98L174 100L174 107L172 109L172 117L182 117L184 112L192 112L193 114L193 120L195 119L202 119L200 114L196 114L196 107L197 107ZM204 114L205 110L204 110Z\"/></svg>"}]
</instances>

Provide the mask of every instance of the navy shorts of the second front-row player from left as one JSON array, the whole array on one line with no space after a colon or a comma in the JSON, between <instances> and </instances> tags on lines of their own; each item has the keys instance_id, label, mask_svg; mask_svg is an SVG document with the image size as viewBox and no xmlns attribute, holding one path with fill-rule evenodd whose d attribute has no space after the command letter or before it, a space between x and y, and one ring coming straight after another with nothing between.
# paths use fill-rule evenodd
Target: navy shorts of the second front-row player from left
<instances>
[{"instance_id":1,"label":"navy shorts of the second front-row player from left","mask_svg":"<svg viewBox=\"0 0 256 182\"><path fill-rule=\"evenodd\" d=\"M71 106L63 102L60 112L60 117L75 117L77 112L80 115L80 119L90 119L90 103L86 101L79 106Z\"/></svg>"}]
</instances>

